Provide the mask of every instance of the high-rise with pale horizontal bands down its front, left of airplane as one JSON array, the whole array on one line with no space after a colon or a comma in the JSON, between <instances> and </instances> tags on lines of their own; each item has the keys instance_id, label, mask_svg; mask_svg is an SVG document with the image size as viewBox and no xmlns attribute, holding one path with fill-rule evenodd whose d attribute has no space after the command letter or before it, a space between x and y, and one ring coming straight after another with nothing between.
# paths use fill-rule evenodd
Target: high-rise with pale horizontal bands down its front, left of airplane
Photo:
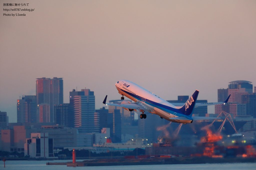
<instances>
[{"instance_id":1,"label":"high-rise with pale horizontal bands down its front, left of airplane","mask_svg":"<svg viewBox=\"0 0 256 170\"><path fill-rule=\"evenodd\" d=\"M94 126L94 91L81 89L70 91L69 94L69 117L72 117L70 121L73 121L69 126L77 128L79 133L99 132L99 127Z\"/></svg>"}]
</instances>

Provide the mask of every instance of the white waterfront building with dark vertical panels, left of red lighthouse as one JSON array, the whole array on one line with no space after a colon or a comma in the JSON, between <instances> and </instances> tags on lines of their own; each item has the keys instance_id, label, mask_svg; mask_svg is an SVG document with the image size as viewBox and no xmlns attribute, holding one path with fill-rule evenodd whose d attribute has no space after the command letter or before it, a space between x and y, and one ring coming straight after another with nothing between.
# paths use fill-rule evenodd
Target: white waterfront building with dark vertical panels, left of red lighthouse
<instances>
[{"instance_id":1,"label":"white waterfront building with dark vertical panels, left of red lighthouse","mask_svg":"<svg viewBox=\"0 0 256 170\"><path fill-rule=\"evenodd\" d=\"M25 156L31 158L50 158L54 157L53 139L49 138L48 133L31 133L31 138L26 138L24 144Z\"/></svg>"}]
</instances>

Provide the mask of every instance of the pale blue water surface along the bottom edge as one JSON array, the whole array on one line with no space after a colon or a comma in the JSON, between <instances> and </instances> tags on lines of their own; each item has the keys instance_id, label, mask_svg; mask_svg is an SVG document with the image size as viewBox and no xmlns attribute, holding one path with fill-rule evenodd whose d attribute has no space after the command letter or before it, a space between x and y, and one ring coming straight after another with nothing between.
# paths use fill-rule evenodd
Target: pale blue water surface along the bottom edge
<instances>
[{"instance_id":1,"label":"pale blue water surface along the bottom edge","mask_svg":"<svg viewBox=\"0 0 256 170\"><path fill-rule=\"evenodd\" d=\"M82 166L67 167L67 165L46 165L47 162L71 162L72 160L53 160L53 161L0 161L0 169L36 169L36 170L66 170L71 169L90 169L90 170L255 170L256 163L225 163L225 164L176 164L176 165L125 165L125 166ZM82 161L82 160L77 160Z\"/></svg>"}]
</instances>

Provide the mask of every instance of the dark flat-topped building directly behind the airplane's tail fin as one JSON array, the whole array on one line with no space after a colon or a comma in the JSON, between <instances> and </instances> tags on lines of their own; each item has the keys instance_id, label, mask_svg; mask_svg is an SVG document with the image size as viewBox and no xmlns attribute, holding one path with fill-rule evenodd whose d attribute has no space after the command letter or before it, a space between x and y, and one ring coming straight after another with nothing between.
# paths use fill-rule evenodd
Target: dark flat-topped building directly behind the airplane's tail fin
<instances>
[{"instance_id":1,"label":"dark flat-topped building directly behind the airplane's tail fin","mask_svg":"<svg viewBox=\"0 0 256 170\"><path fill-rule=\"evenodd\" d=\"M175 103L186 103L189 96L178 96L178 100L166 100L175 106ZM225 99L226 100L226 99ZM225 101L224 100L224 101ZM196 103L207 103L207 100L196 100ZM207 114L207 106L200 106L193 109L193 114L198 114L199 116L205 116Z\"/></svg>"}]
</instances>

